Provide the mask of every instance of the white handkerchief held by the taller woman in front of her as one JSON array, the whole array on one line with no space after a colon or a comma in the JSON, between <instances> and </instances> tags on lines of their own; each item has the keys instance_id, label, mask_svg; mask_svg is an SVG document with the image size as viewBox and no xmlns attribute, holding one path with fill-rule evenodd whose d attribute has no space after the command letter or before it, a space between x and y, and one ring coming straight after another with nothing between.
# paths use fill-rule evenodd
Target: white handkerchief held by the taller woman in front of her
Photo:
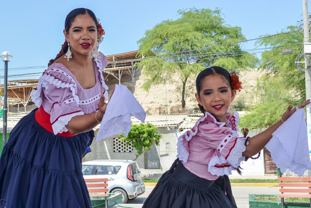
<instances>
[{"instance_id":1,"label":"white handkerchief held by the taller woman in front of her","mask_svg":"<svg viewBox=\"0 0 311 208\"><path fill-rule=\"evenodd\" d=\"M145 122L146 112L134 95L124 85L116 85L100 124L96 141L121 134L125 137L131 129L131 116Z\"/></svg>"}]
</instances>

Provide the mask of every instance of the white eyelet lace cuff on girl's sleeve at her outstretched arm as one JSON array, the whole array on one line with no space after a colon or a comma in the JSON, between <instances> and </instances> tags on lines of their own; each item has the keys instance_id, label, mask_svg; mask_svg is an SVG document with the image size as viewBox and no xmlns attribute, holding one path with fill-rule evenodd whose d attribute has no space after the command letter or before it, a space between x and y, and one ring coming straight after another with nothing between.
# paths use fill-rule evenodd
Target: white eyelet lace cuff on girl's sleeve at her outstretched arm
<instances>
[{"instance_id":1,"label":"white eyelet lace cuff on girl's sleeve at her outstretched arm","mask_svg":"<svg viewBox=\"0 0 311 208\"><path fill-rule=\"evenodd\" d=\"M208 163L208 171L213 175L230 175L231 170L234 170L234 168L237 168L240 163L245 160L245 157L242 156L242 152L245 151L245 138L235 138L237 139L236 144L234 145L233 149L230 151L229 156L227 157L227 160L224 156L216 156L213 157L210 162ZM218 149L216 151L219 151ZM220 151L219 151L220 152ZM229 165L225 165L226 163L229 163ZM215 165L223 165L225 167L215 167Z\"/></svg>"}]
</instances>

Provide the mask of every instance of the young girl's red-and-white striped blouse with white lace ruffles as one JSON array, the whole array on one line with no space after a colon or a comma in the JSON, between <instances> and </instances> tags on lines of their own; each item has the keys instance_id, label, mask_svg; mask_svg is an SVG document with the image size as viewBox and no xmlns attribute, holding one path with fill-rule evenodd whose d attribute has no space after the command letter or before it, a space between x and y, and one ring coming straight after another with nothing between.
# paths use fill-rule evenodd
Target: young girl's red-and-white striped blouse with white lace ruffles
<instances>
[{"instance_id":1,"label":"young girl's red-and-white striped blouse with white lace ruffles","mask_svg":"<svg viewBox=\"0 0 311 208\"><path fill-rule=\"evenodd\" d=\"M245 160L245 138L237 134L239 114L234 111L234 116L227 115L226 121L229 127L206 112L179 137L177 157L193 174L215 180L220 175L230 175Z\"/></svg>"}]
</instances>

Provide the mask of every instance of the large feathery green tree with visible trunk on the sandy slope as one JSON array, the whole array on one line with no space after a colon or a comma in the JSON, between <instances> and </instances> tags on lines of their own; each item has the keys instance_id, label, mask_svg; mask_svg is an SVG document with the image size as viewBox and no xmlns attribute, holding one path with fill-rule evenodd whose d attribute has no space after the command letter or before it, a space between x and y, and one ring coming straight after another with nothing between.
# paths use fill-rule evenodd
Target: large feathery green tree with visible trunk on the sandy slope
<instances>
[{"instance_id":1,"label":"large feathery green tree with visible trunk on the sandy slope","mask_svg":"<svg viewBox=\"0 0 311 208\"><path fill-rule=\"evenodd\" d=\"M137 41L140 54L147 57L137 65L144 68L146 91L164 84L166 76L180 89L185 108L187 82L202 69L213 64L225 69L254 67L258 59L243 52L240 43L229 44L245 37L240 27L225 24L219 9L191 8L179 10L178 15L179 19L162 21ZM174 82L173 76L179 81Z\"/></svg>"}]
</instances>

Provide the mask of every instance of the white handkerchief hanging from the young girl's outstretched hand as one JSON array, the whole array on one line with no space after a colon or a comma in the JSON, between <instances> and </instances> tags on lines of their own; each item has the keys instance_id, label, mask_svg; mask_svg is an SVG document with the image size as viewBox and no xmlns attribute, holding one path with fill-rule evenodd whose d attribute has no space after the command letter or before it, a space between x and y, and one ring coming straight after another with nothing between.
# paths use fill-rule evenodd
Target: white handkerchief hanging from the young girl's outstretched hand
<instances>
[{"instance_id":1,"label":"white handkerchief hanging from the young girl's outstretched hand","mask_svg":"<svg viewBox=\"0 0 311 208\"><path fill-rule=\"evenodd\" d=\"M282 173L288 168L301 176L305 170L311 169L303 108L297 110L273 132L266 148Z\"/></svg>"}]
</instances>

